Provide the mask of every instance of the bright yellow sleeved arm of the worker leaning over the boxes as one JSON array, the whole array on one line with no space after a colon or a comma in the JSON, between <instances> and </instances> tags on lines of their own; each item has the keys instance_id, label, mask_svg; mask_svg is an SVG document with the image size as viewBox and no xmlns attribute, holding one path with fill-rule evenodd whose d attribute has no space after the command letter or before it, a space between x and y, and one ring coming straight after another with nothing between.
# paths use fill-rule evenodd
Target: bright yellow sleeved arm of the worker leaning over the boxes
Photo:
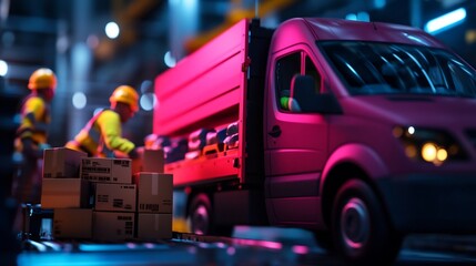
<instances>
[{"instance_id":1,"label":"bright yellow sleeved arm of the worker leaning over the boxes","mask_svg":"<svg viewBox=\"0 0 476 266\"><path fill-rule=\"evenodd\" d=\"M126 154L130 154L134 150L134 143L122 137L122 125L118 113L104 111L98 117L98 124L108 149Z\"/></svg>"}]
</instances>

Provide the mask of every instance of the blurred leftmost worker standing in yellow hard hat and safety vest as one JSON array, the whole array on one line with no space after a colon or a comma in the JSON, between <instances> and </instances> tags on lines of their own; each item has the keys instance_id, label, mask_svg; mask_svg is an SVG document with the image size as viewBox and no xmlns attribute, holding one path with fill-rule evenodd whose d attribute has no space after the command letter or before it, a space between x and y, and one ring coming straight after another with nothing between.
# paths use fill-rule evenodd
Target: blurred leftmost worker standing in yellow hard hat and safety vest
<instances>
[{"instance_id":1,"label":"blurred leftmost worker standing in yellow hard hat and safety vest","mask_svg":"<svg viewBox=\"0 0 476 266\"><path fill-rule=\"evenodd\" d=\"M13 161L18 171L13 177L12 195L22 203L39 203L41 192L40 160L50 124L50 102L54 96L57 76L50 69L36 70L29 80L31 93L21 105L21 122L14 140Z\"/></svg>"}]
</instances>

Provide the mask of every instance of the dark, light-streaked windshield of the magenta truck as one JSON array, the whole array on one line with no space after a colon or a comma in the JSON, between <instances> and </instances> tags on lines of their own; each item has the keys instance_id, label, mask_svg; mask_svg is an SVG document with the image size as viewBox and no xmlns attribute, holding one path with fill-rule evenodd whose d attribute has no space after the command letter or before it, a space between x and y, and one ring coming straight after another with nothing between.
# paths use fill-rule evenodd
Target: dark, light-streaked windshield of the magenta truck
<instances>
[{"instance_id":1,"label":"dark, light-streaked windshield of the magenta truck","mask_svg":"<svg viewBox=\"0 0 476 266\"><path fill-rule=\"evenodd\" d=\"M475 70L445 50L356 41L318 45L351 94L476 98Z\"/></svg>"}]
</instances>

